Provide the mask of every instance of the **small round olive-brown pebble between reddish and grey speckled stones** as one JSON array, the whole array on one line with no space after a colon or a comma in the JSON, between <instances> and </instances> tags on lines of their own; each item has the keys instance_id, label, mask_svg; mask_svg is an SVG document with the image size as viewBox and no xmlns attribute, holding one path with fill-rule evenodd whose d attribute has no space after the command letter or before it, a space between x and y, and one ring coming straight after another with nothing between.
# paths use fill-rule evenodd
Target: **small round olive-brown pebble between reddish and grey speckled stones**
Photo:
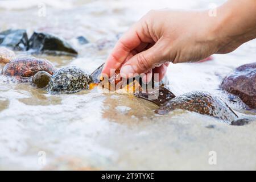
<instances>
[{"instance_id":1,"label":"small round olive-brown pebble between reddish and grey speckled stones","mask_svg":"<svg viewBox=\"0 0 256 182\"><path fill-rule=\"evenodd\" d=\"M51 80L52 75L48 72L40 71L37 72L32 78L32 85L38 88L45 88L48 82Z\"/></svg>"}]
</instances>

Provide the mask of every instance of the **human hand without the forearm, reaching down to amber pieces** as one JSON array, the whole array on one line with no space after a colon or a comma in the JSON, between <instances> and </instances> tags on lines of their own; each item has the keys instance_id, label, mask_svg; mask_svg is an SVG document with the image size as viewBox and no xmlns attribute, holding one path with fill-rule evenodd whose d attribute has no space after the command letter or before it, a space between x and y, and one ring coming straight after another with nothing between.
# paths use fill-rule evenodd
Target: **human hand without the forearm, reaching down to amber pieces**
<instances>
[{"instance_id":1,"label":"human hand without the forearm, reaching down to amber pieces","mask_svg":"<svg viewBox=\"0 0 256 182\"><path fill-rule=\"evenodd\" d=\"M119 39L102 73L122 67L121 73L129 77L147 73L143 81L149 81L154 72L162 80L170 61L197 61L212 55L214 38L208 24L201 22L208 23L203 13L150 11Z\"/></svg>"}]
</instances>

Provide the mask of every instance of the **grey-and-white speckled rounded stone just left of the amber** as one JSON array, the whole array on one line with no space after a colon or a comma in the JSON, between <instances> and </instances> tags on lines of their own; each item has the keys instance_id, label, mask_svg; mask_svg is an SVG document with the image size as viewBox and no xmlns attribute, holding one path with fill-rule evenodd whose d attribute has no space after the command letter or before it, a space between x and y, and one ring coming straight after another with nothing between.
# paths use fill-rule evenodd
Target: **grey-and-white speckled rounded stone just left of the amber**
<instances>
[{"instance_id":1,"label":"grey-and-white speckled rounded stone just left of the amber","mask_svg":"<svg viewBox=\"0 0 256 182\"><path fill-rule=\"evenodd\" d=\"M92 77L77 67L59 69L49 81L48 92L51 93L76 93L89 89Z\"/></svg>"}]
</instances>

